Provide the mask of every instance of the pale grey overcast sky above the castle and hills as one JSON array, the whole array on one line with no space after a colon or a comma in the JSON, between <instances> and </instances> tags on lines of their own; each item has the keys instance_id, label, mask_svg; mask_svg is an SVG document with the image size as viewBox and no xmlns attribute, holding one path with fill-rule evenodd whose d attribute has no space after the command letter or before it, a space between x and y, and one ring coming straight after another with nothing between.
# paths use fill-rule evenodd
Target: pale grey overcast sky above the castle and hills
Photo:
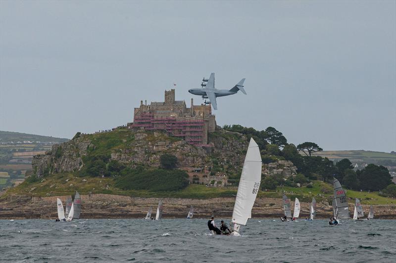
<instances>
[{"instance_id":1,"label":"pale grey overcast sky above the castle and hills","mask_svg":"<svg viewBox=\"0 0 396 263\"><path fill-rule=\"evenodd\" d=\"M71 138L203 76L217 124L396 150L396 1L0 1L0 129Z\"/></svg>"}]
</instances>

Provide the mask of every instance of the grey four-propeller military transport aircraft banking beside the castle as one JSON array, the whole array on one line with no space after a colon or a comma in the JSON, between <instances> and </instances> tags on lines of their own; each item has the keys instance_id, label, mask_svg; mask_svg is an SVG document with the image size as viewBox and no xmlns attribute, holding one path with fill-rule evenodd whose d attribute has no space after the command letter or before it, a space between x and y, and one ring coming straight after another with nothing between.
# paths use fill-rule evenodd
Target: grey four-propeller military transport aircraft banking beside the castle
<instances>
[{"instance_id":1,"label":"grey four-propeller military transport aircraft banking beside the castle","mask_svg":"<svg viewBox=\"0 0 396 263\"><path fill-rule=\"evenodd\" d=\"M216 97L232 95L237 93L239 90L241 90L245 95L247 94L244 89L244 82L245 79L242 79L237 85L234 86L234 88L231 88L229 90L217 89L214 88L214 73L212 73L210 74L209 79L203 78L201 84L202 88L191 88L189 89L189 92L194 95L202 96L202 98L208 98L209 102L206 102L205 100L205 104L211 103L213 109L217 110Z\"/></svg>"}]
</instances>

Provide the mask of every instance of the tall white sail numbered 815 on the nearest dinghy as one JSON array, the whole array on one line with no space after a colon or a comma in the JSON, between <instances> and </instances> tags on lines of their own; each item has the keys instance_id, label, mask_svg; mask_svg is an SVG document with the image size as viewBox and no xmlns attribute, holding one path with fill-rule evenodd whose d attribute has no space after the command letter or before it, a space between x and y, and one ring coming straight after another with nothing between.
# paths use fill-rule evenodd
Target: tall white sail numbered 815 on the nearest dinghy
<instances>
[{"instance_id":1,"label":"tall white sail numbered 815 on the nearest dinghy","mask_svg":"<svg viewBox=\"0 0 396 263\"><path fill-rule=\"evenodd\" d=\"M233 235L239 235L241 225L251 218L251 209L258 193L261 181L261 155L257 143L250 138L244 167L239 181L237 198L232 213Z\"/></svg>"}]
</instances>

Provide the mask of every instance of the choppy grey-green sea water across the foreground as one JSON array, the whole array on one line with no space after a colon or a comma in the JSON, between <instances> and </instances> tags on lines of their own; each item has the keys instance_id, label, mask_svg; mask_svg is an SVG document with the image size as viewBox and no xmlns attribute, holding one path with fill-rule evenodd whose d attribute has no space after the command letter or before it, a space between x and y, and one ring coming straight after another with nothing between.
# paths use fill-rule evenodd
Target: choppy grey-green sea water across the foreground
<instances>
[{"instance_id":1,"label":"choppy grey-green sea water across the foreground","mask_svg":"<svg viewBox=\"0 0 396 263\"><path fill-rule=\"evenodd\" d=\"M0 220L0 261L396 262L396 220L342 223L249 219L216 236L207 219Z\"/></svg>"}]
</instances>

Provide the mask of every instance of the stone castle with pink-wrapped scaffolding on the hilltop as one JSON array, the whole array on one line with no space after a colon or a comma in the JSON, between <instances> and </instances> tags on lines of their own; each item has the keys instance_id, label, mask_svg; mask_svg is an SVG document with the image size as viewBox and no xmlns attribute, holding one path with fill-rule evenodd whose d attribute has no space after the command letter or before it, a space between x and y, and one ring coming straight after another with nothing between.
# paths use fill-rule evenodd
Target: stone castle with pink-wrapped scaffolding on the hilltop
<instances>
[{"instance_id":1,"label":"stone castle with pink-wrapped scaffolding on the hilltop","mask_svg":"<svg viewBox=\"0 0 396 263\"><path fill-rule=\"evenodd\" d=\"M133 119L130 128L165 131L170 136L202 147L210 147L208 133L216 128L210 104L194 105L191 99L191 107L187 108L184 100L175 100L175 89L165 90L164 102L147 105L147 101L143 104L141 100L140 107L134 109Z\"/></svg>"}]
</instances>

